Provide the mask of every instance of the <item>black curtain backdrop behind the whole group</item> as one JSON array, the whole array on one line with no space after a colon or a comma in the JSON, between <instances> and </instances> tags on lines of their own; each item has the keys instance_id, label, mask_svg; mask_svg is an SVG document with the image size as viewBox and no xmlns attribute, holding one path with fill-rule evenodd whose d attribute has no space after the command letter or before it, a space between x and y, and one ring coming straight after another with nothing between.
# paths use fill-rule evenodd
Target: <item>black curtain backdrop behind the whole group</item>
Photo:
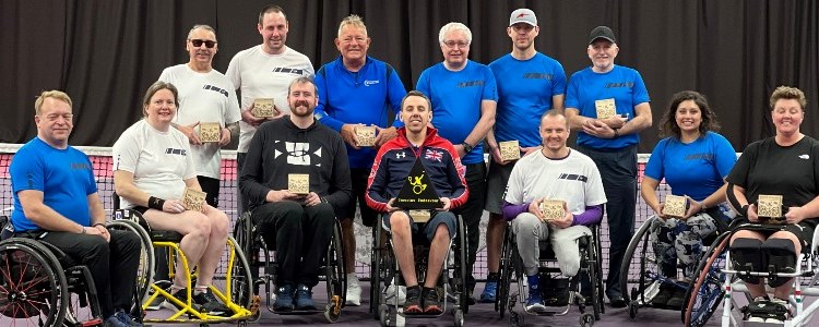
<instances>
[{"instance_id":1,"label":"black curtain backdrop behind the whole group","mask_svg":"<svg viewBox=\"0 0 819 327\"><path fill-rule=\"evenodd\" d=\"M63 89L74 100L73 145L110 146L141 117L141 97L166 66L187 62L193 24L216 28L214 66L225 72L239 50L259 45L258 13L284 8L287 45L318 69L339 56L341 20L364 17L369 53L391 63L407 89L442 60L438 31L462 22L473 32L472 60L489 63L511 49L506 35L517 8L535 11L539 51L567 75L590 64L589 31L610 26L618 64L640 71L652 98L654 126L640 152L657 141L669 97L696 89L709 97L722 133L736 150L772 135L768 98L779 85L808 97L803 132L819 136L819 4L803 0L11 0L0 1L0 142L36 134L34 98Z\"/></svg>"}]
</instances>

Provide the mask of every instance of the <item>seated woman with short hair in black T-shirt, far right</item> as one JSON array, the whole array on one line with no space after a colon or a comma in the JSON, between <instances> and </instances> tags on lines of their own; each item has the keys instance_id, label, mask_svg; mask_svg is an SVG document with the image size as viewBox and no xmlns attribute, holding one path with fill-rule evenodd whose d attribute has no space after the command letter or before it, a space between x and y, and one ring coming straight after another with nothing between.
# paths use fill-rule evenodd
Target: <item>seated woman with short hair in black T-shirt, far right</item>
<instances>
[{"instance_id":1,"label":"seated woman with short hair in black T-shirt, far right","mask_svg":"<svg viewBox=\"0 0 819 327\"><path fill-rule=\"evenodd\" d=\"M806 104L798 88L776 87L770 100L775 136L748 145L728 174L733 184L728 198L738 214L731 238L735 270L795 272L798 254L810 249L819 221L819 143L799 132ZM785 223L759 217L760 195L782 195ZM768 279L773 299L762 278L741 274L739 278L753 298L746 316L749 322L783 324L788 318L793 278Z\"/></svg>"}]
</instances>

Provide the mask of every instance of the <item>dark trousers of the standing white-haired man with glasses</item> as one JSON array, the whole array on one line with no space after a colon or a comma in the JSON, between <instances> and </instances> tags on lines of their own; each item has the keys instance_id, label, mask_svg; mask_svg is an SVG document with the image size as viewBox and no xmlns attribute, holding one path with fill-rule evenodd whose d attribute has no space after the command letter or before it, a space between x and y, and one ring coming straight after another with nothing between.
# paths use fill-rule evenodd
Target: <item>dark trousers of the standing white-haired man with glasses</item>
<instances>
[{"instance_id":1,"label":"dark trousers of the standing white-haired man with glasses","mask_svg":"<svg viewBox=\"0 0 819 327\"><path fill-rule=\"evenodd\" d=\"M484 215L486 203L486 165L484 162L464 165L466 167L466 186L470 187L470 198L458 208L456 213L463 219L466 228L466 290L472 294L475 289L475 277L472 270L477 256L478 241L480 240L480 216ZM461 235L456 235L461 238Z\"/></svg>"}]
</instances>

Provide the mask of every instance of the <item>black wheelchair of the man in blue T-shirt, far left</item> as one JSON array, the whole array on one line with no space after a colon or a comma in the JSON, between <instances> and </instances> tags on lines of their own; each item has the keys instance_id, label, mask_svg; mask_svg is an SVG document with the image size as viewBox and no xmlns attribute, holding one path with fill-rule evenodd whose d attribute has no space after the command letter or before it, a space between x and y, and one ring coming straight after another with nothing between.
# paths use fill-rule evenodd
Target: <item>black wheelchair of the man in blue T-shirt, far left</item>
<instances>
[{"instance_id":1,"label":"black wheelchair of the man in blue T-shirt, far left","mask_svg":"<svg viewBox=\"0 0 819 327\"><path fill-rule=\"evenodd\" d=\"M87 267L49 243L11 237L13 228L8 217L0 216L0 227L4 238L0 242L1 326L103 325L96 287ZM129 222L108 226L128 230L133 227ZM134 300L142 299L144 291L138 282Z\"/></svg>"}]
</instances>

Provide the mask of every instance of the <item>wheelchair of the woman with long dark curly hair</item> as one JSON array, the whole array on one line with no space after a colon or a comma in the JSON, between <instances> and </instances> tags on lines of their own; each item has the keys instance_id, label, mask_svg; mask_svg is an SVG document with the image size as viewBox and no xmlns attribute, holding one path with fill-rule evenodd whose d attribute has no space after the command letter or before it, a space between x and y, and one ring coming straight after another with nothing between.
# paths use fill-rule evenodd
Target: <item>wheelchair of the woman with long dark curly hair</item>
<instances>
[{"instance_id":1,"label":"wheelchair of the woman with long dark curly hair","mask_svg":"<svg viewBox=\"0 0 819 327\"><path fill-rule=\"evenodd\" d=\"M679 281L675 277L666 277L660 269L660 264L652 246L652 238L656 235L660 228L656 216L651 216L631 237L631 241L624 255L622 265L620 266L620 289L624 298L628 301L629 317L632 319L642 307L655 307L652 300L660 293L662 284L674 286L687 291L685 303L688 303L691 289L688 282ZM714 232L702 240L703 246L711 244L715 240L722 240L726 233ZM703 247L700 258L704 258L713 252L713 246ZM699 262L699 258L697 259ZM677 269L679 270L679 269ZM702 267L695 271L702 271ZM713 271L707 271L713 272ZM713 291L713 290L711 290ZM717 293L709 293L708 296L716 296ZM656 307L668 308L668 307ZM679 311L679 308L673 308Z\"/></svg>"}]
</instances>

